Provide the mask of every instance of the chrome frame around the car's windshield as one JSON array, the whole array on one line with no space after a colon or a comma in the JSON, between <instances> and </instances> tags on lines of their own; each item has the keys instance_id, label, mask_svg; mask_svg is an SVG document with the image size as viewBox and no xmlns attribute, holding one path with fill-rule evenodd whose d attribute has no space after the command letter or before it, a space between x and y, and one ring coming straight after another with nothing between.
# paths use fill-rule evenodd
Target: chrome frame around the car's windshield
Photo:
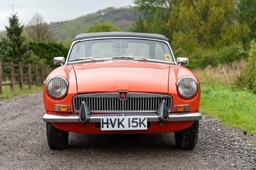
<instances>
[{"instance_id":1,"label":"chrome frame around the car's windshield","mask_svg":"<svg viewBox=\"0 0 256 170\"><path fill-rule=\"evenodd\" d=\"M90 40L106 40L106 39L137 39L137 40L151 40L151 41L157 41L157 42L163 42L163 43L166 43L166 45L168 45L169 49L170 49L170 52L172 54L172 59L173 61L163 61L163 60L159 60L159 59L147 59L149 62L154 62L154 63L166 63L166 64L174 64L174 65L177 65L176 63L176 60L175 60L175 57L173 55L173 51L172 51L172 48L170 47L170 43L168 41L165 41L165 40L158 40L158 39L153 39L153 38L138 38L138 37L123 37L123 36L120 36L120 37L112 37L112 36L109 36L109 37L104 37L104 38L88 38L88 39L84 39L84 40L76 40L74 42L72 42L71 46L70 46L70 49L68 50L68 55L67 55L67 59L65 61L65 65L68 65L68 64L76 64L76 63L88 63L88 62L92 62L91 60L84 60L84 61L70 61L68 62L68 59L70 58L70 53L71 53L71 50L72 48L74 47L75 43L77 42L85 42L85 41L90 41ZM103 59L95 59L96 61L108 61L108 60L118 60L118 59L112 59L112 58L103 58ZM124 59L120 59L120 60L124 60ZM139 59L139 58L134 58L134 59L125 59L125 60L136 60L136 61L144 61L143 59Z\"/></svg>"}]
</instances>

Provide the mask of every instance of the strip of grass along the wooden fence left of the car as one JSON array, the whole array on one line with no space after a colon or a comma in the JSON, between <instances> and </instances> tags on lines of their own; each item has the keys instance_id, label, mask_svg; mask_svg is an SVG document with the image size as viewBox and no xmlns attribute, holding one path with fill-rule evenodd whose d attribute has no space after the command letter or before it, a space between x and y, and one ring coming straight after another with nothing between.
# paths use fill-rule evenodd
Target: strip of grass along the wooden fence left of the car
<instances>
[{"instance_id":1,"label":"strip of grass along the wooden fence left of the car","mask_svg":"<svg viewBox=\"0 0 256 170\"><path fill-rule=\"evenodd\" d=\"M43 86L31 86L31 89L28 86L24 86L23 89L19 88L19 85L15 85L15 90L11 91L10 86L3 86L3 93L0 94L0 101L12 100L17 97L31 95L37 91L42 91Z\"/></svg>"}]
</instances>

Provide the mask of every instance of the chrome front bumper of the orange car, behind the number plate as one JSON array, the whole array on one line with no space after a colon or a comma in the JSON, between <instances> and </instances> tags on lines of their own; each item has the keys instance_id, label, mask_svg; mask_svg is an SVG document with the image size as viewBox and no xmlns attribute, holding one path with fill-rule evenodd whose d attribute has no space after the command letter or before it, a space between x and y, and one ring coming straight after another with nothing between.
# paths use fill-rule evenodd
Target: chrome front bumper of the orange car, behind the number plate
<instances>
[{"instance_id":1,"label":"chrome front bumper of the orange car, behind the number plate","mask_svg":"<svg viewBox=\"0 0 256 170\"><path fill-rule=\"evenodd\" d=\"M90 115L90 122L100 122L104 116L147 116L147 121L159 121L157 114L92 114ZM168 121L190 121L200 120L202 114L200 112L179 112L170 113ZM79 121L79 114L44 114L43 120L45 122L56 123L77 123Z\"/></svg>"}]
</instances>

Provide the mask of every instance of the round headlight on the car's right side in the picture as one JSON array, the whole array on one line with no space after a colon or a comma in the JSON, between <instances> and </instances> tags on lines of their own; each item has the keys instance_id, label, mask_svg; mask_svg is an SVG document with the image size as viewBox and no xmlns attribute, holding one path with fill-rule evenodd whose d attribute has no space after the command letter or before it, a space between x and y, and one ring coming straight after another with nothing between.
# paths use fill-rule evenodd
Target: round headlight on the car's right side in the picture
<instances>
[{"instance_id":1,"label":"round headlight on the car's right side in the picture","mask_svg":"<svg viewBox=\"0 0 256 170\"><path fill-rule=\"evenodd\" d=\"M178 93L181 97L194 97L198 91L198 83L193 77L181 77L177 82Z\"/></svg>"}]
</instances>

